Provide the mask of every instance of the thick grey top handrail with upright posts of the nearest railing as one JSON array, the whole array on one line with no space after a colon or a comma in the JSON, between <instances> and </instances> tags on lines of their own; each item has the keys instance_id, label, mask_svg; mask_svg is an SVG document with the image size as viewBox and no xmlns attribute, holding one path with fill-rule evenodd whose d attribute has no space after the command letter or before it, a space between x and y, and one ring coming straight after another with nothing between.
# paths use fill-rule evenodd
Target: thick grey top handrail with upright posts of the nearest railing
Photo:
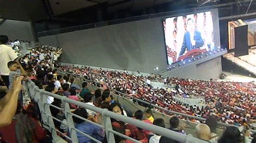
<instances>
[{"instance_id":1,"label":"thick grey top handrail with upright posts of the nearest railing","mask_svg":"<svg viewBox=\"0 0 256 143\"><path fill-rule=\"evenodd\" d=\"M86 104L86 103L82 103L82 102L75 101L73 99L69 99L65 96L60 96L60 95L57 95L57 94L53 94L53 93L45 91L43 89L39 89L36 86L36 84L33 83L31 80L28 80L26 82L26 87L28 87L29 91L35 92L33 95L38 95L39 94L39 98L42 98L43 102L46 102L46 96L45 95L60 99L62 101L62 103L65 103L64 104L65 113L70 113L69 104L75 104L75 105L80 106L82 108L89 109L91 111L95 111L95 112L100 113L104 118L104 123L107 123L107 124L104 124L107 141L114 141L113 140L113 134L116 134L116 132L114 132L112 130L111 122L110 122L110 118L114 118L116 120L123 121L124 123L128 123L128 124L143 128L145 130L152 131L153 133L161 134L165 137L171 138L173 140L177 140L179 142L206 142L206 141L191 137L191 135L180 134L178 132L174 132L174 131L171 131L167 128L159 127L159 126L156 126L156 125L149 125L148 123L145 123L143 121L136 120L136 119L126 117L126 116L123 116L123 115L119 115L117 113L108 111L107 109L100 109L98 107L91 106L91 105ZM43 108L43 110L41 109L42 111L46 110L46 112L49 112L49 111L47 111L48 110L47 106L44 105L45 103L43 103L43 106L41 106L41 104L42 103L39 104L39 108ZM48 106L48 108L49 108L49 106ZM47 115L45 114L45 116L47 116ZM72 130L74 130L74 125L73 125L73 121L72 121L71 116L66 117L66 119L68 120L68 126L71 129L71 139L72 140L77 139L77 137L73 136L73 135L76 135L76 133L72 134ZM52 129L51 132L54 130L55 133L56 133L54 125L50 126L50 128ZM52 133L53 133L53 137L56 137L56 135L54 136L54 132L52 132ZM108 134L110 134L110 135L108 135ZM120 135L120 134L117 134L117 135ZM123 137L123 135L121 135L121 136ZM132 138L127 137L125 135L124 135L124 138L132 140Z\"/></svg>"}]
</instances>

